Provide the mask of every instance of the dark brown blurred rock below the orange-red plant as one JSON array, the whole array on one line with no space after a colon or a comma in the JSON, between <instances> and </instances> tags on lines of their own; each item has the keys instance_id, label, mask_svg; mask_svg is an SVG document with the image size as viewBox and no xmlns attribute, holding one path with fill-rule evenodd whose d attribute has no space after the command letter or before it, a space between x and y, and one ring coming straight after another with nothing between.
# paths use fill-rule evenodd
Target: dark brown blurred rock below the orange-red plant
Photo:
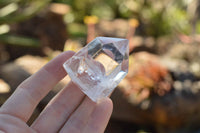
<instances>
[{"instance_id":1,"label":"dark brown blurred rock below the orange-red plant","mask_svg":"<svg viewBox=\"0 0 200 133\"><path fill-rule=\"evenodd\" d=\"M111 96L114 104L112 118L149 125L162 133L174 133L180 129L190 129L191 132L200 122L199 96L200 93L176 95L175 92L163 97L153 96L149 99L149 108L142 109L129 103L120 89L116 89Z\"/></svg>"}]
</instances>

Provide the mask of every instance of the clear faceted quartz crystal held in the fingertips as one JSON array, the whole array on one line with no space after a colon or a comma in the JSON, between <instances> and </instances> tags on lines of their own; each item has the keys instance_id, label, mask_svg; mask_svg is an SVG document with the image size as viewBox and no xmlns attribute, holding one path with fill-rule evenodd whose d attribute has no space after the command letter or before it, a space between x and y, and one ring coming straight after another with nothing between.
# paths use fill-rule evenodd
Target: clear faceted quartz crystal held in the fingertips
<instances>
[{"instance_id":1,"label":"clear faceted quartz crystal held in the fingertips","mask_svg":"<svg viewBox=\"0 0 200 133\"><path fill-rule=\"evenodd\" d=\"M93 101L111 94L128 72L128 40L97 37L63 66L71 80Z\"/></svg>"}]
</instances>

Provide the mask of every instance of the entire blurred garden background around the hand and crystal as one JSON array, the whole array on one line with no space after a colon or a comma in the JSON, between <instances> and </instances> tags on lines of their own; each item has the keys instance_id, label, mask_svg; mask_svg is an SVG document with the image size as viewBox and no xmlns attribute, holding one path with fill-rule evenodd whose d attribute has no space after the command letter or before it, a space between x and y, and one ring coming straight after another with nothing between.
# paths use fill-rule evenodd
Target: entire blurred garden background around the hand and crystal
<instances>
[{"instance_id":1,"label":"entire blurred garden background around the hand and crystal","mask_svg":"<svg viewBox=\"0 0 200 133\"><path fill-rule=\"evenodd\" d=\"M105 133L200 133L199 0L0 0L0 104L53 57L97 36L130 41Z\"/></svg>"}]
</instances>

